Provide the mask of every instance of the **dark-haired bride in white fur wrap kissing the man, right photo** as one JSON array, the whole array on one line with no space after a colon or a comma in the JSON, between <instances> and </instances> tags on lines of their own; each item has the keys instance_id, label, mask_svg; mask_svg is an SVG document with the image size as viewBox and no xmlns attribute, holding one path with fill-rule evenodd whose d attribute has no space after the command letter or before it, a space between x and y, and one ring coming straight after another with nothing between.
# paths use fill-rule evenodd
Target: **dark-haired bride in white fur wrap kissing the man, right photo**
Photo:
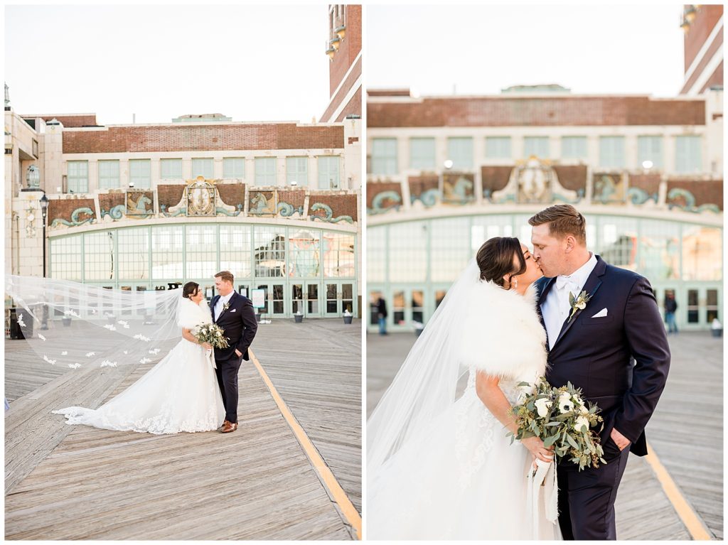
<instances>
[{"instance_id":1,"label":"dark-haired bride in white fur wrap kissing the man, right photo","mask_svg":"<svg viewBox=\"0 0 728 545\"><path fill-rule=\"evenodd\" d=\"M507 437L518 383L545 374L541 276L518 239L496 237L448 290L367 424L368 538L561 539L543 497L528 507L527 475L552 451Z\"/></svg>"}]
</instances>

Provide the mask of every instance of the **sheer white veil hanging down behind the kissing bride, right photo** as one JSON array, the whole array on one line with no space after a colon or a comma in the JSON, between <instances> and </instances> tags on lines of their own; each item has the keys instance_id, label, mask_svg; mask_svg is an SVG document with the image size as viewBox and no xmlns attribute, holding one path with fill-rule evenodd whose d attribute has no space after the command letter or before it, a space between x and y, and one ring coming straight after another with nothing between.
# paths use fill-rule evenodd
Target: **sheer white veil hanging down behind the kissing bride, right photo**
<instances>
[{"instance_id":1,"label":"sheer white veil hanging down behind the kissing bride, right photo","mask_svg":"<svg viewBox=\"0 0 728 545\"><path fill-rule=\"evenodd\" d=\"M480 269L470 260L417 338L394 381L367 421L367 480L376 493L382 466L411 437L422 437L435 416L455 402L459 379L471 359L487 354L462 350L463 335L473 331L468 304L477 290ZM483 309L486 311L486 309ZM472 343L471 343L472 344Z\"/></svg>"}]
</instances>

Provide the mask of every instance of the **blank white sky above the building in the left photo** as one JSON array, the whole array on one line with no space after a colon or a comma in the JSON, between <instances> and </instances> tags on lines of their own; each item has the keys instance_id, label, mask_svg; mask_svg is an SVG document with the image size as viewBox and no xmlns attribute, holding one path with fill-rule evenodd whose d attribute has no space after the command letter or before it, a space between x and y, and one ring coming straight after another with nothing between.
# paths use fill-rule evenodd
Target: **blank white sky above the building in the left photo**
<instances>
[{"instance_id":1,"label":"blank white sky above the building in the left photo","mask_svg":"<svg viewBox=\"0 0 728 545\"><path fill-rule=\"evenodd\" d=\"M19 114L310 123L328 105L325 4L4 9L4 79Z\"/></svg>"}]
</instances>

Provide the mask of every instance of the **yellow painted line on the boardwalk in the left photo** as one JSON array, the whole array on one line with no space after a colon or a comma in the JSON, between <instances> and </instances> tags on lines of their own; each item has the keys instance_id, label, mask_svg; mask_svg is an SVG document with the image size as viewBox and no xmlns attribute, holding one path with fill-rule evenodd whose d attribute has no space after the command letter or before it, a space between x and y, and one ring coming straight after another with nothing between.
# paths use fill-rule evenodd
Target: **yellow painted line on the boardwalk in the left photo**
<instances>
[{"instance_id":1,"label":"yellow painted line on the boardwalk in the left photo","mask_svg":"<svg viewBox=\"0 0 728 545\"><path fill-rule=\"evenodd\" d=\"M304 453L306 453L306 456L308 456L312 466L314 466L317 474L319 474L320 479L323 481L326 488L328 488L331 496L333 496L333 500L339 505L339 509L341 509L341 512L344 514L344 517L346 517L349 525L357 531L357 538L361 539L362 517L360 517L359 512L357 512L352 501L349 500L347 493L345 493L344 489L341 488L341 485L339 485L339 481L337 481L336 477L333 476L331 469L329 469L326 462L323 458L321 458L321 455L318 453L318 450L316 450L316 447L314 447L311 439L309 439L309 436L306 435L306 431L304 431L301 424L299 424L293 416L293 413L290 412L288 405L286 405L285 401L283 401L282 397L280 397L276 387L273 386L271 379L263 369L261 362L258 361L258 358L255 354L253 354L252 350L248 349L248 354L250 355L250 360L253 362L253 365L256 366L258 373L261 375L261 378L263 378L264 383L268 386L276 405L278 405L281 415L285 418L285 421L288 422L288 426L290 426L290 429L293 431L296 439L298 439L298 443L304 449Z\"/></svg>"}]
</instances>

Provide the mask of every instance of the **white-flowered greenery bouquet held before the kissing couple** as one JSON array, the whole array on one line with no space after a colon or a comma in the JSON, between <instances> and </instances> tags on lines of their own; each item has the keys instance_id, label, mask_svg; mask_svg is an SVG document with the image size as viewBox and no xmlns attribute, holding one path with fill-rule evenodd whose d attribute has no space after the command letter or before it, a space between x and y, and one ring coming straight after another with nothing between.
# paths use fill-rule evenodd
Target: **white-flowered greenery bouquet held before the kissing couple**
<instances>
[{"instance_id":1,"label":"white-flowered greenery bouquet held before the kissing couple","mask_svg":"<svg viewBox=\"0 0 728 545\"><path fill-rule=\"evenodd\" d=\"M527 382L518 386L531 386ZM520 405L512 408L518 424L518 432L511 436L515 439L539 437L545 447L554 446L557 458L570 457L574 464L579 464L579 471L586 466L598 467L604 461L604 450L599 436L592 430L603 421L599 407L582 399L581 389L574 388L569 382L561 388L554 388L541 377L534 387L534 392L526 396Z\"/></svg>"}]
</instances>

